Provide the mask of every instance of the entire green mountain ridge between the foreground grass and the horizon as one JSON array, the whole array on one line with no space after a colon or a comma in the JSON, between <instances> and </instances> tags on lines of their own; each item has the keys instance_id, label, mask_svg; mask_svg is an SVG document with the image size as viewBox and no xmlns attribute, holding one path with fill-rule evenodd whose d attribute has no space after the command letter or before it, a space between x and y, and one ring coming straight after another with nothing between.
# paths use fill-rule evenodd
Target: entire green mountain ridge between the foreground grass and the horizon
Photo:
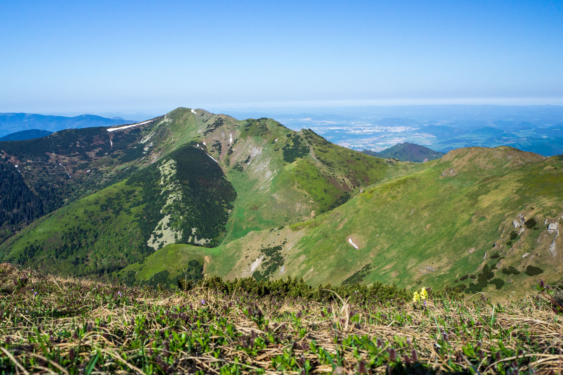
<instances>
[{"instance_id":1,"label":"entire green mountain ridge between the foreground grass and the horizon","mask_svg":"<svg viewBox=\"0 0 563 375\"><path fill-rule=\"evenodd\" d=\"M98 132L90 146L76 130L82 141L72 150L64 142L47 153L37 141L33 152L5 147L12 173L13 163L31 160L18 174L26 186L42 175L39 159L77 165L90 157L84 167L96 165L102 177L86 183L75 169L80 188L21 224L0 259L171 285L193 260L228 279L423 283L502 295L529 290L539 270L560 278L560 157L470 147L397 162L272 119L185 108L109 130L88 130Z\"/></svg>"}]
</instances>

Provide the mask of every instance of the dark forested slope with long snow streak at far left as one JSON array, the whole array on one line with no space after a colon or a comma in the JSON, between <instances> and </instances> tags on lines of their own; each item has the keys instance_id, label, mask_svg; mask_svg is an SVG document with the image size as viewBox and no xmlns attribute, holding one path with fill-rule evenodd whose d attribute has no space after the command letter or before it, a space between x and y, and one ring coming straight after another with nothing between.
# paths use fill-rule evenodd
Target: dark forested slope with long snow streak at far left
<instances>
[{"instance_id":1,"label":"dark forested slope with long snow streak at far left","mask_svg":"<svg viewBox=\"0 0 563 375\"><path fill-rule=\"evenodd\" d=\"M65 202L86 196L110 184L126 178L133 171L149 163L138 163L149 156L156 160L165 129L155 130L154 142L142 144L142 138L150 129L143 125L163 123L163 118L145 121L130 128L109 131L107 128L85 128L61 130L36 139L0 143L1 169L8 174L19 174L25 188L20 187L19 178L6 179L7 194L0 196L0 206L8 206L19 196L20 189L29 191L37 201L33 205L10 206L14 218L7 223L0 216L0 227L7 235L29 223L31 218L61 207ZM23 201L22 201L23 203ZM17 219L24 215L26 219ZM10 229L11 228L11 229Z\"/></svg>"}]
</instances>

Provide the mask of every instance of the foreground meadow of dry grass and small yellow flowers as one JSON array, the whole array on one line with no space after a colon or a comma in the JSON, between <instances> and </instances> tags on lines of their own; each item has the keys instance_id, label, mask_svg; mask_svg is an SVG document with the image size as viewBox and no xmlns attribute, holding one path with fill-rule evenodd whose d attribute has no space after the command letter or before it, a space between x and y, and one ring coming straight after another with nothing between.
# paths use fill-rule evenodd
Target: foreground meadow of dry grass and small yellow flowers
<instances>
[{"instance_id":1,"label":"foreground meadow of dry grass and small yellow flowers","mask_svg":"<svg viewBox=\"0 0 563 375\"><path fill-rule=\"evenodd\" d=\"M424 305L352 293L314 302L0 265L3 374L555 374L562 336L561 317L540 296L491 304L430 292Z\"/></svg>"}]
</instances>

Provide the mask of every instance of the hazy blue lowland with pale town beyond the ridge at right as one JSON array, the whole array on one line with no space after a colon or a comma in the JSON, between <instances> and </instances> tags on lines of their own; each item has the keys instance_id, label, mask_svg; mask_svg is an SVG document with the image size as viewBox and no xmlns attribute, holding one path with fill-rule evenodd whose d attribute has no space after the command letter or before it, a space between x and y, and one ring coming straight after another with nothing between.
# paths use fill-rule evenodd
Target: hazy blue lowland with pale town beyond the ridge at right
<instances>
[{"instance_id":1,"label":"hazy blue lowland with pale town beyond the ridge at right","mask_svg":"<svg viewBox=\"0 0 563 375\"><path fill-rule=\"evenodd\" d=\"M511 146L543 156L563 153L562 106L395 106L278 111L292 130L311 129L352 150L380 152L399 142L448 152L461 147ZM267 111L224 112L235 118Z\"/></svg>"}]
</instances>

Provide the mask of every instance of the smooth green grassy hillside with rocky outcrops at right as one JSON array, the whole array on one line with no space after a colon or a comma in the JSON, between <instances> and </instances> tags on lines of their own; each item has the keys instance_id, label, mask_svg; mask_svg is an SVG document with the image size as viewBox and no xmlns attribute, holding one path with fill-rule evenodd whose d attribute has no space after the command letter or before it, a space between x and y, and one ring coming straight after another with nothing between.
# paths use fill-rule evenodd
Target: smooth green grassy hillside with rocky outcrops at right
<instances>
[{"instance_id":1,"label":"smooth green grassy hillside with rocky outcrops at right","mask_svg":"<svg viewBox=\"0 0 563 375\"><path fill-rule=\"evenodd\" d=\"M305 222L216 249L167 246L120 275L149 279L166 269L173 278L182 263L163 261L173 254L204 258L205 273L231 279L446 285L497 296L530 290L539 273L546 281L561 277L561 159L471 147L425 165Z\"/></svg>"}]
</instances>

